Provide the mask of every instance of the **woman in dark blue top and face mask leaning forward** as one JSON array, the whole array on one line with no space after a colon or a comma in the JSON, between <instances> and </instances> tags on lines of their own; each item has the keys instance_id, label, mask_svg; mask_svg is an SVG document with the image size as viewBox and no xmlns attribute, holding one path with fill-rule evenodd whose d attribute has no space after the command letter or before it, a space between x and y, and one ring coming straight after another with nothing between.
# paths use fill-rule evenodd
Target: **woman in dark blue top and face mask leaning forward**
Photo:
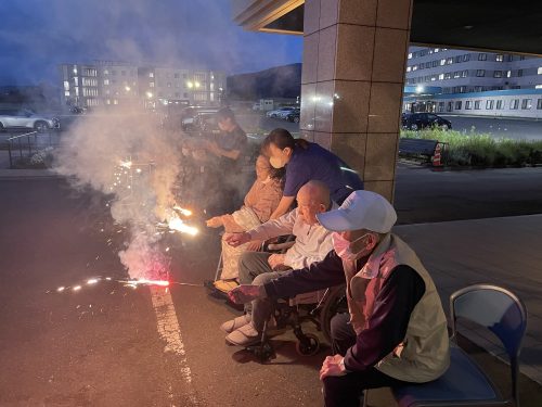
<instances>
[{"instance_id":1,"label":"woman in dark blue top and face mask leaning forward","mask_svg":"<svg viewBox=\"0 0 542 407\"><path fill-rule=\"evenodd\" d=\"M263 141L262 151L273 167L286 168L283 196L271 219L284 215L299 188L311 179L324 182L332 200L339 205L352 191L363 189L363 181L343 160L317 143L294 139L285 129L271 131Z\"/></svg>"}]
</instances>

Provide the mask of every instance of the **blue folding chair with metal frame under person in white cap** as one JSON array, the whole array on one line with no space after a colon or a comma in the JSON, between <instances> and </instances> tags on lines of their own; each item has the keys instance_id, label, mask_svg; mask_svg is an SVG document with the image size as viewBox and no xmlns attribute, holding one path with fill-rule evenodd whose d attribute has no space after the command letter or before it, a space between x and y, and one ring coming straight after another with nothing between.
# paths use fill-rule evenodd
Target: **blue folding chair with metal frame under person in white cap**
<instances>
[{"instance_id":1,"label":"blue folding chair with metal frame under person in white cap","mask_svg":"<svg viewBox=\"0 0 542 407\"><path fill-rule=\"evenodd\" d=\"M450 296L452 340L457 318L486 327L502 342L509 358L512 395L504 399L483 370L452 342L450 368L439 379L424 384L392 389L400 407L414 406L519 406L517 377L519 352L527 327L527 310L511 291L496 285L475 284ZM366 392L365 392L366 393Z\"/></svg>"}]
</instances>

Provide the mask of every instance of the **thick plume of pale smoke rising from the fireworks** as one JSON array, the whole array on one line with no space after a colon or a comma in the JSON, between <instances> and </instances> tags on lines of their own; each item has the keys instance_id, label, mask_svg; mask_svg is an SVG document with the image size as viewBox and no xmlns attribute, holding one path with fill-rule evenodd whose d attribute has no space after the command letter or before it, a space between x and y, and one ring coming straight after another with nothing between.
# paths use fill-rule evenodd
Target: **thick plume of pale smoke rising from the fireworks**
<instances>
[{"instance_id":1,"label":"thick plume of pale smoke rising from the fireworks","mask_svg":"<svg viewBox=\"0 0 542 407\"><path fill-rule=\"evenodd\" d=\"M143 111L86 116L62 140L56 173L112 196L111 215L130 232L120 262L131 278L162 279L169 258L158 241L173 206L180 137Z\"/></svg>"}]
</instances>

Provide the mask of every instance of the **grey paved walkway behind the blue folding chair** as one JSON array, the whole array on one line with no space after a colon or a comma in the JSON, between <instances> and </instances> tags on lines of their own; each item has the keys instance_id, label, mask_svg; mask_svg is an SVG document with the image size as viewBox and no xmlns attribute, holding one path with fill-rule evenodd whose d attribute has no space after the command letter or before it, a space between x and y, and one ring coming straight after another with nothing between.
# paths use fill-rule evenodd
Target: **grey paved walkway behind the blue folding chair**
<instances>
[{"instance_id":1,"label":"grey paved walkway behind the blue folding chair","mask_svg":"<svg viewBox=\"0 0 542 407\"><path fill-rule=\"evenodd\" d=\"M542 215L397 226L430 271L448 314L450 294L474 283L515 292L528 310L520 371L542 384ZM482 331L485 332L485 331ZM467 338L499 356L491 334Z\"/></svg>"}]
</instances>

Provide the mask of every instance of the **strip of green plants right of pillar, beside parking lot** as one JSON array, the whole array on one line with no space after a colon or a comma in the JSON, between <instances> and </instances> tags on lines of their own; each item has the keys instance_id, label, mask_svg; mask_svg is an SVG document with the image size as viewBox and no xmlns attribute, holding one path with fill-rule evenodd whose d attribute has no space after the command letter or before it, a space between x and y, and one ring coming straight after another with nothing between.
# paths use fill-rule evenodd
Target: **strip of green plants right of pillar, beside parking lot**
<instances>
[{"instance_id":1,"label":"strip of green plants right of pillar, beside parking lot","mask_svg":"<svg viewBox=\"0 0 542 407\"><path fill-rule=\"evenodd\" d=\"M438 140L449 145L448 165L474 167L522 167L542 164L542 140L495 139L488 133L455 130L403 130L401 137Z\"/></svg>"}]
</instances>

